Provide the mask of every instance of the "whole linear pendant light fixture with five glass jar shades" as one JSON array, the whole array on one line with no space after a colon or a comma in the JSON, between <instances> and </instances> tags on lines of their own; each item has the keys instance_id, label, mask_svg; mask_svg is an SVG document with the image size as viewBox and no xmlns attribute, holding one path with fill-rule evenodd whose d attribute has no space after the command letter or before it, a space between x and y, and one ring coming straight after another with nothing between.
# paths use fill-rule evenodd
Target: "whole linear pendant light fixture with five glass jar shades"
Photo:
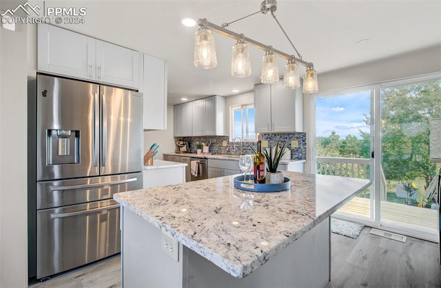
<instances>
[{"instance_id":1,"label":"whole linear pendant light fixture with five glass jar shades","mask_svg":"<svg viewBox=\"0 0 441 288\"><path fill-rule=\"evenodd\" d=\"M247 44L249 44L265 51L265 56L263 56L262 60L262 70L260 74L260 80L262 81L262 83L271 84L279 80L276 58L276 56L278 56L280 58L288 60L288 63L285 66L283 87L287 89L297 89L298 87L300 87L300 79L298 76L298 65L300 64L307 68L305 76L303 76L303 93L316 93L318 91L318 82L317 73L316 70L314 70L314 65L311 62L306 62L305 60L302 60L302 56L300 55L300 53L298 53L296 47L292 43L291 39L289 39L287 33L283 29L282 25L280 25L276 15L274 14L276 10L276 0L264 0L262 3L260 3L260 10L258 10L257 12L231 21L229 23L223 23L221 26L210 23L207 21L207 19L199 19L198 25L201 26L201 29L198 30L195 35L194 65L202 69L216 67L217 62L216 51L214 47L214 38L211 33L208 33L211 30L218 34L222 34L223 36L234 38L236 39L236 41L238 41L238 43L233 46L232 51L232 76L246 77L251 74L251 65L249 65L249 52L247 49ZM253 40L252 38L247 38L243 36L243 34L238 34L236 32L225 29L225 27L228 27L232 23L235 23L258 13L271 14L271 16L280 27L280 30L282 30L287 40L296 51L297 57L289 55L285 52L281 52L280 50L273 49L271 45L265 45L263 43Z\"/></svg>"}]
</instances>

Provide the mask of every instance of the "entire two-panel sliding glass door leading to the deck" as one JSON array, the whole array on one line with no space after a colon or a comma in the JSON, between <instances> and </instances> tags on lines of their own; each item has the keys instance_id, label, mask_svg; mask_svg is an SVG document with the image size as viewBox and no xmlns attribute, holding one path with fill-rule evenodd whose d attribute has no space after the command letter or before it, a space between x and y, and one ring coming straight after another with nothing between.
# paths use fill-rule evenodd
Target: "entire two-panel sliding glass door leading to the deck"
<instances>
[{"instance_id":1,"label":"entire two-panel sliding glass door leading to the deck","mask_svg":"<svg viewBox=\"0 0 441 288\"><path fill-rule=\"evenodd\" d=\"M441 122L441 75L318 93L311 104L316 173L373 183L338 217L439 241L441 165L429 138L430 121Z\"/></svg>"}]
</instances>

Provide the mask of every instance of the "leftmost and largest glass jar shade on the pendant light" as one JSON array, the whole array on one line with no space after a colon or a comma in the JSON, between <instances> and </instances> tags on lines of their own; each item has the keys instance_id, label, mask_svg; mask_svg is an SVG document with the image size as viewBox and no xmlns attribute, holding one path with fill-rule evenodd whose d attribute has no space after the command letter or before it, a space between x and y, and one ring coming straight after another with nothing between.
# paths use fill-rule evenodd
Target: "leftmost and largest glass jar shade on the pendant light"
<instances>
[{"instance_id":1,"label":"leftmost and largest glass jar shade on the pendant light","mask_svg":"<svg viewBox=\"0 0 441 288\"><path fill-rule=\"evenodd\" d=\"M218 65L214 36L208 29L199 29L194 34L193 63L201 69L212 69Z\"/></svg>"}]
</instances>

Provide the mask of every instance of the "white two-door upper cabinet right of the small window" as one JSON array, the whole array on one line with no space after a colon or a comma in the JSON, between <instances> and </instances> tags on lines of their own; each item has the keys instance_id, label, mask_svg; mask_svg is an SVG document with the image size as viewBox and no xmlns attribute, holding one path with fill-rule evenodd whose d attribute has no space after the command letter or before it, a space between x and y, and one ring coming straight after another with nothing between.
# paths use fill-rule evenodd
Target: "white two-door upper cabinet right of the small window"
<instances>
[{"instance_id":1,"label":"white two-door upper cabinet right of the small window","mask_svg":"<svg viewBox=\"0 0 441 288\"><path fill-rule=\"evenodd\" d=\"M256 133L302 132L302 109L300 89L285 89L282 81L254 87Z\"/></svg>"}]
</instances>

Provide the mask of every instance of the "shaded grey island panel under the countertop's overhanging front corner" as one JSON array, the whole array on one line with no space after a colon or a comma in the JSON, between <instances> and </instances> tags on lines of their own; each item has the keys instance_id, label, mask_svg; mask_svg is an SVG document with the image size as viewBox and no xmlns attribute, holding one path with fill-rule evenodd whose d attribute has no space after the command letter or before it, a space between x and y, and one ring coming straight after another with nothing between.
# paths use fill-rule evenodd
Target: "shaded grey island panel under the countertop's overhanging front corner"
<instances>
[{"instance_id":1,"label":"shaded grey island panel under the countertop's overhanging front corner","mask_svg":"<svg viewBox=\"0 0 441 288\"><path fill-rule=\"evenodd\" d=\"M325 287L330 280L329 217L245 278L234 278L183 247L185 288Z\"/></svg>"}]
</instances>

